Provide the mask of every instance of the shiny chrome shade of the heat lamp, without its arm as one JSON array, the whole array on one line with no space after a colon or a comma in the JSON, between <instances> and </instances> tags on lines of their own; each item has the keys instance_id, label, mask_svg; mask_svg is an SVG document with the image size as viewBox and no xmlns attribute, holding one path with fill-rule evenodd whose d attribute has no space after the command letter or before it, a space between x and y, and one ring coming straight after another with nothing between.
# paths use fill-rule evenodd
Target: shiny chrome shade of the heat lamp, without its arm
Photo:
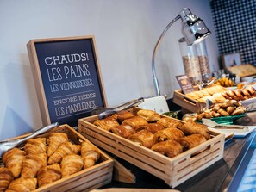
<instances>
[{"instance_id":1,"label":"shiny chrome shade of the heat lamp, without its arm","mask_svg":"<svg viewBox=\"0 0 256 192\"><path fill-rule=\"evenodd\" d=\"M181 31L188 46L204 40L209 34L211 34L203 20L196 15L193 15L190 12L190 9L183 9L179 15L182 20Z\"/></svg>"}]
</instances>

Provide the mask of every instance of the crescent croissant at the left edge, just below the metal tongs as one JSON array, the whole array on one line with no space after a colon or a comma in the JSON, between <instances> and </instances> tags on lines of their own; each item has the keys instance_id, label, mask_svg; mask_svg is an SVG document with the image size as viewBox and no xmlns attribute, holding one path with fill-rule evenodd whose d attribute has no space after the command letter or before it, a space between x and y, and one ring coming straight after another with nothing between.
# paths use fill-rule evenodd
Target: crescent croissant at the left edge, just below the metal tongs
<instances>
[{"instance_id":1,"label":"crescent croissant at the left edge, just below the metal tongs","mask_svg":"<svg viewBox=\"0 0 256 192\"><path fill-rule=\"evenodd\" d=\"M14 177L19 177L25 155L26 152L16 147L3 154L3 164L12 172Z\"/></svg>"}]
</instances>

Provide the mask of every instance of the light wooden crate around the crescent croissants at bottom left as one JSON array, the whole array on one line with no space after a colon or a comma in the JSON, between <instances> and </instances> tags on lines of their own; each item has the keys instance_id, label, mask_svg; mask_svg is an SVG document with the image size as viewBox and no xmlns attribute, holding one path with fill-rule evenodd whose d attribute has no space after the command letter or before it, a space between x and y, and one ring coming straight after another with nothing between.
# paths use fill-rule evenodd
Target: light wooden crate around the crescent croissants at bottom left
<instances>
[{"instance_id":1,"label":"light wooden crate around the crescent croissants at bottom left","mask_svg":"<svg viewBox=\"0 0 256 192\"><path fill-rule=\"evenodd\" d=\"M88 139L85 139L83 135L68 125L56 127L50 132L42 134L40 137L47 138L49 134L53 132L66 133L72 143L75 144L78 144L79 140L84 140L91 143ZM15 139L21 139L25 136L26 135L23 135ZM97 189L102 187L104 184L110 183L113 173L113 160L101 150L99 151L101 152L101 157L96 165L85 170L80 170L79 172L72 174L69 177L61 178L58 181L35 189L34 192L90 191L91 189Z\"/></svg>"}]
</instances>

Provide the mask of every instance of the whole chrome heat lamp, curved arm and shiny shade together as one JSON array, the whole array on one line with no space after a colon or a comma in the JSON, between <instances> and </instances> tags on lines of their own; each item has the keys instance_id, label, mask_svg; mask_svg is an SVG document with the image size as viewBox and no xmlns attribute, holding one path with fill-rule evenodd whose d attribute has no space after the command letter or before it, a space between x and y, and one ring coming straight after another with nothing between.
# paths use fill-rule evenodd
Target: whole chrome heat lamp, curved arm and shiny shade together
<instances>
[{"instance_id":1,"label":"whole chrome heat lamp, curved arm and shiny shade together","mask_svg":"<svg viewBox=\"0 0 256 192\"><path fill-rule=\"evenodd\" d=\"M167 25L167 27L159 37L159 40L156 46L154 47L153 56L152 56L153 84L154 84L157 96L160 96L160 90L159 90L159 82L156 76L156 71L154 66L155 54L159 48L159 44L161 43L161 40L163 39L165 33L172 26L172 24L176 22L178 19L182 20L183 25L182 25L181 31L182 31L182 34L184 35L184 38L188 46L197 44L201 40L204 40L209 34L211 34L209 29L205 26L203 20L197 17L196 15L193 15L190 12L190 9L188 8L183 9L179 13L179 15Z\"/></svg>"}]
</instances>

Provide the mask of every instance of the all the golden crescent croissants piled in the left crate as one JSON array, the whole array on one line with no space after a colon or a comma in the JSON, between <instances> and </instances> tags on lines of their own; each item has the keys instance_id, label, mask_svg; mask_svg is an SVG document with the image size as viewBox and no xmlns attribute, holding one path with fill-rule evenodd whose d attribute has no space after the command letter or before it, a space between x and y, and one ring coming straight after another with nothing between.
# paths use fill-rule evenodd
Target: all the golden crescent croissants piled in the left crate
<instances>
[{"instance_id":1,"label":"all the golden crescent croissants piled in the left crate","mask_svg":"<svg viewBox=\"0 0 256 192\"><path fill-rule=\"evenodd\" d=\"M24 149L15 147L3 153L0 191L31 191L89 168L99 158L96 146L86 141L73 144L66 133L28 139Z\"/></svg>"}]
</instances>

